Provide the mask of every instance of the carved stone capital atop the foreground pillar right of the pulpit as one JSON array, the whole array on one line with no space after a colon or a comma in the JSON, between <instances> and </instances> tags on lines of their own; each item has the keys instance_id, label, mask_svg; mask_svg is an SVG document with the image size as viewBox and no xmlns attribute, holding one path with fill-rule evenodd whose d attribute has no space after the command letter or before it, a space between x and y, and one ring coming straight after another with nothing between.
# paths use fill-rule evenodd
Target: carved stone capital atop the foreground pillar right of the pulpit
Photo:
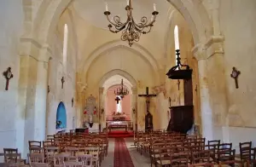
<instances>
[{"instance_id":1,"label":"carved stone capital atop the foreground pillar right of the pulpit","mask_svg":"<svg viewBox=\"0 0 256 167\"><path fill-rule=\"evenodd\" d=\"M197 44L192 49L196 60L207 60L215 54L224 54L224 36L212 36L207 43Z\"/></svg>"}]
</instances>

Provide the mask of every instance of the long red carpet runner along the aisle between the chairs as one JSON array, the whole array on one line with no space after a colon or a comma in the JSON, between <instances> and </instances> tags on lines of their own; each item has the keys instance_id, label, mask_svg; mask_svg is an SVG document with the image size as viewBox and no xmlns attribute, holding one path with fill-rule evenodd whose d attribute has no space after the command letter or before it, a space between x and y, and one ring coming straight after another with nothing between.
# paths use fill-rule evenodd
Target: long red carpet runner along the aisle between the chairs
<instances>
[{"instance_id":1,"label":"long red carpet runner along the aisle between the chairs","mask_svg":"<svg viewBox=\"0 0 256 167\"><path fill-rule=\"evenodd\" d=\"M134 167L124 138L115 138L113 167Z\"/></svg>"}]
</instances>

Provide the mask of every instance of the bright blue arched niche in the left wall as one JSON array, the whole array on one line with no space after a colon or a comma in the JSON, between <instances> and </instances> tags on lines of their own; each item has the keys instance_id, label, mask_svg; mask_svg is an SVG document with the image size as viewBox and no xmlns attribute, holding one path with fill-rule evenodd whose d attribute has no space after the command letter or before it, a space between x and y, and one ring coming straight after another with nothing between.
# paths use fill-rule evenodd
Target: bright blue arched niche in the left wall
<instances>
[{"instance_id":1,"label":"bright blue arched niche in the left wall","mask_svg":"<svg viewBox=\"0 0 256 167\"><path fill-rule=\"evenodd\" d=\"M61 101L57 108L56 115L56 130L66 130L67 129L67 112L64 103Z\"/></svg>"}]
</instances>

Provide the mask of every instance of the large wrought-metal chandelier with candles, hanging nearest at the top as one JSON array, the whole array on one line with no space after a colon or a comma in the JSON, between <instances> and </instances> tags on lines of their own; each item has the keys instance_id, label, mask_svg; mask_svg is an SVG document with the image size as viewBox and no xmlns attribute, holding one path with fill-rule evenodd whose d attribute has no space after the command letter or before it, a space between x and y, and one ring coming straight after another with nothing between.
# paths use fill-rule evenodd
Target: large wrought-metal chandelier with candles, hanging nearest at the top
<instances>
[{"instance_id":1,"label":"large wrought-metal chandelier with candles, hanging nearest at the top","mask_svg":"<svg viewBox=\"0 0 256 167\"><path fill-rule=\"evenodd\" d=\"M140 23L136 23L132 16L132 5L131 0L127 0L127 6L125 7L125 10L127 11L127 20L123 23L120 20L120 17L118 15L115 15L113 17L113 20L109 18L109 15L111 14L108 11L108 3L106 3L106 11L104 14L107 16L108 21L110 24L108 25L109 31L113 33L118 33L120 31L123 31L121 34L121 40L122 41L128 41L130 47L133 44L133 42L138 42L140 40L141 34L146 34L151 31L152 26L154 26L154 21L156 18L156 15L159 14L159 12L156 11L155 3L153 4L154 12L152 13L152 18L148 22L148 18L143 16L141 18ZM115 28L113 30L112 28ZM144 31L145 29L145 31Z\"/></svg>"}]
</instances>

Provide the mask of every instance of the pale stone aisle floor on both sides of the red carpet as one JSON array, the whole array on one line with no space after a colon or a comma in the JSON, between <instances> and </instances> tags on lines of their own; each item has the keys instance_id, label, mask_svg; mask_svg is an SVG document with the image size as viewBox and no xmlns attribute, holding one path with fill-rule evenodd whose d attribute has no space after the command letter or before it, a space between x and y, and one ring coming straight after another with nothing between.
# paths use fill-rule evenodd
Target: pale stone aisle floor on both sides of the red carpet
<instances>
[{"instance_id":1,"label":"pale stone aisle floor on both sides of the red carpet","mask_svg":"<svg viewBox=\"0 0 256 167\"><path fill-rule=\"evenodd\" d=\"M137 153L137 149L132 146L133 138L126 138L126 146L131 155L134 167L150 167L150 159L148 155ZM102 167L113 167L113 153L114 153L114 139L109 139L108 143L108 157L102 161Z\"/></svg>"}]
</instances>

